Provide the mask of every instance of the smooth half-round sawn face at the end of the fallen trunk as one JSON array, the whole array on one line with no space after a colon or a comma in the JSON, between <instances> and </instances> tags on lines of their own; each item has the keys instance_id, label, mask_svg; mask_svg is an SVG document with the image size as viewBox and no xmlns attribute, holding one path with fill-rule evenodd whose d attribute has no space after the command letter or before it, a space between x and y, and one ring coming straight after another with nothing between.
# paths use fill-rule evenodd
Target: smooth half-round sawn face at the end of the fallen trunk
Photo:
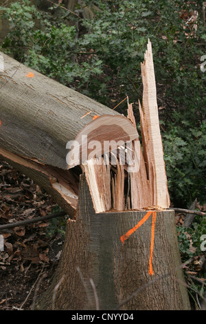
<instances>
[{"instance_id":1,"label":"smooth half-round sawn face at the end of the fallen trunk","mask_svg":"<svg viewBox=\"0 0 206 324\"><path fill-rule=\"evenodd\" d=\"M110 143L124 145L137 137L137 128L126 117L111 115L98 117L85 125L74 139L75 147L69 153L71 158L68 159L67 168L73 168L93 159L94 153L96 157L101 158L103 154L110 152L111 149L108 147Z\"/></svg>"}]
</instances>

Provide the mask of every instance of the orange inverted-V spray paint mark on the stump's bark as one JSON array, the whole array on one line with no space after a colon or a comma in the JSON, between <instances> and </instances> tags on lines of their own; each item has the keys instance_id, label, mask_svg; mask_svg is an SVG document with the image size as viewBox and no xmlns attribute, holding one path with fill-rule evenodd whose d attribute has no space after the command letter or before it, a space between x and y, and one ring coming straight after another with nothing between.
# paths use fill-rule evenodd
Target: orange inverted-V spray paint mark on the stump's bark
<instances>
[{"instance_id":1,"label":"orange inverted-V spray paint mark on the stump's bark","mask_svg":"<svg viewBox=\"0 0 206 324\"><path fill-rule=\"evenodd\" d=\"M156 212L147 212L146 215L135 225L135 227L131 228L126 234L121 236L121 241L124 244L124 241L130 237L131 234L133 234L137 228L139 228L142 224L144 224L150 215L152 214L152 229L151 229L151 243L150 243L150 259L149 259L149 274L152 275L153 269L152 269L152 257L153 257L153 249L154 249L154 241L155 241L155 221L156 221Z\"/></svg>"}]
</instances>

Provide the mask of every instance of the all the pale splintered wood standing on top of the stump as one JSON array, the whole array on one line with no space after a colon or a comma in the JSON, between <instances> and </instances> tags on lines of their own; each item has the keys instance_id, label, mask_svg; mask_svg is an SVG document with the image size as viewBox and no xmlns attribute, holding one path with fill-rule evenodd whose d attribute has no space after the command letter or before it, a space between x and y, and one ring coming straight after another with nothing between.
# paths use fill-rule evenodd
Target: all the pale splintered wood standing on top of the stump
<instances>
[{"instance_id":1,"label":"all the pale splintered wood standing on top of the stump","mask_svg":"<svg viewBox=\"0 0 206 324\"><path fill-rule=\"evenodd\" d=\"M161 210L170 207L150 40L144 62L141 63L141 77L144 85L142 108L139 102L142 143L140 144L137 133L130 145L119 145L115 165L97 165L95 159L91 159L85 161L82 167L96 212L111 209ZM133 105L129 102L127 118L137 130ZM112 132L108 129L110 131ZM126 163L121 163L124 154Z\"/></svg>"}]
</instances>

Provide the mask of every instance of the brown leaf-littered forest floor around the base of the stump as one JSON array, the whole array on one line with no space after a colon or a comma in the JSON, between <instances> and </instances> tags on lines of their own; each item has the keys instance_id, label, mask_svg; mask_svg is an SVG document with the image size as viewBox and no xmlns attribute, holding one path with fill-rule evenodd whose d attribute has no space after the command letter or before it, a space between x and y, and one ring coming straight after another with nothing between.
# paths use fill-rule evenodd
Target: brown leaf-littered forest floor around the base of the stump
<instances>
[{"instance_id":1,"label":"brown leaf-littered forest floor around the base of the stump","mask_svg":"<svg viewBox=\"0 0 206 324\"><path fill-rule=\"evenodd\" d=\"M58 206L31 179L0 161L0 225L57 212ZM36 300L58 265L66 216L0 230L0 310L36 310ZM184 215L176 214L176 224ZM194 274L194 267L187 266ZM197 273L197 272L196 272ZM195 275L195 274L194 274ZM204 281L204 280L203 280ZM192 309L196 303L191 299Z\"/></svg>"}]
</instances>

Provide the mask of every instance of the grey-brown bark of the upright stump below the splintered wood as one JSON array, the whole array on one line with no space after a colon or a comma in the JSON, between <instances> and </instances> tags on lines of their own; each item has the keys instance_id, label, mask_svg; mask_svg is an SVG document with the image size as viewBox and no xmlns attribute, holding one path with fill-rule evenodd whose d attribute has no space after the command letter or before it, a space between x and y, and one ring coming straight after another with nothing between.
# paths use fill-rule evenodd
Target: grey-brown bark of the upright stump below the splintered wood
<instances>
[{"instance_id":1,"label":"grey-brown bark of the upright stump below the splintered wood","mask_svg":"<svg viewBox=\"0 0 206 324\"><path fill-rule=\"evenodd\" d=\"M120 239L145 214L145 211L96 214L87 181L81 176L78 216L76 221L67 223L56 275L37 309L190 310L174 211L157 212L153 275L148 273L152 218L124 244Z\"/></svg>"}]
</instances>

